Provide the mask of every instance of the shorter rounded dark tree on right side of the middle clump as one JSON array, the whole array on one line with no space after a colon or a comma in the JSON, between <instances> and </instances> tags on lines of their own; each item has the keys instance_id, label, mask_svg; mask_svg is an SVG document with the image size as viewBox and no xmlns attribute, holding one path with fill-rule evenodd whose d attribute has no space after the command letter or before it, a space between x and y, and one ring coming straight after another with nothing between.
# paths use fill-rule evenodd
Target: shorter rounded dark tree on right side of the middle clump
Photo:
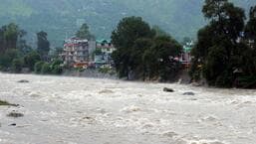
<instances>
[{"instance_id":1,"label":"shorter rounded dark tree on right side of the middle clump","mask_svg":"<svg viewBox=\"0 0 256 144\"><path fill-rule=\"evenodd\" d=\"M173 80L180 71L180 63L175 58L179 57L181 50L181 45L171 37L156 37L143 56L148 77Z\"/></svg>"}]
</instances>

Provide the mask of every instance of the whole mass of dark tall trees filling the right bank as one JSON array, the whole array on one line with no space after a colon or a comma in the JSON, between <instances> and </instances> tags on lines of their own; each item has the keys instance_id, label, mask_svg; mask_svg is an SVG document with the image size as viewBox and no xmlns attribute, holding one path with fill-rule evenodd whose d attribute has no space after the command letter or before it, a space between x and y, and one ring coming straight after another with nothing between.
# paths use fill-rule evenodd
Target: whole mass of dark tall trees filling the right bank
<instances>
[{"instance_id":1,"label":"whole mass of dark tall trees filling the right bank","mask_svg":"<svg viewBox=\"0 0 256 144\"><path fill-rule=\"evenodd\" d=\"M205 0L202 12L209 24L198 31L198 42L192 50L192 78L203 75L210 85L224 87L256 84L253 11L245 26L242 8L228 0ZM251 79L241 82L244 76Z\"/></svg>"}]
</instances>

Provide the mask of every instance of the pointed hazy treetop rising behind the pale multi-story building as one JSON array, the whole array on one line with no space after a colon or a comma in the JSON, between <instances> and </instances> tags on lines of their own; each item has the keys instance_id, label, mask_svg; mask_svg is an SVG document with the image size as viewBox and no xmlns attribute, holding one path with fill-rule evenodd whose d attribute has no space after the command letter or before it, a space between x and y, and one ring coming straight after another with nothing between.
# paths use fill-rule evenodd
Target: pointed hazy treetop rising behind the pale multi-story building
<instances>
[{"instance_id":1,"label":"pointed hazy treetop rising behind the pale multi-story building","mask_svg":"<svg viewBox=\"0 0 256 144\"><path fill-rule=\"evenodd\" d=\"M89 26L87 24L83 24L81 26L76 36L80 39L95 40L95 36L91 34Z\"/></svg>"}]
</instances>

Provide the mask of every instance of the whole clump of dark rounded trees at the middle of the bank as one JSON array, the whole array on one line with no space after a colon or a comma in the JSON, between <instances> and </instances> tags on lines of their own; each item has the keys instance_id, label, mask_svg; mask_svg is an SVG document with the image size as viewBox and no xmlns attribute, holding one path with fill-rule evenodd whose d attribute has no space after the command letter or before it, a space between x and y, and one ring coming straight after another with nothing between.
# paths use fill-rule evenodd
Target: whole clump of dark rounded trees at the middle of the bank
<instances>
[{"instance_id":1,"label":"whole clump of dark rounded trees at the middle of the bank","mask_svg":"<svg viewBox=\"0 0 256 144\"><path fill-rule=\"evenodd\" d=\"M155 30L140 17L124 18L113 32L117 48L113 58L117 72L128 79L172 80L179 71L174 60L181 46L169 36L155 35Z\"/></svg>"}]
</instances>

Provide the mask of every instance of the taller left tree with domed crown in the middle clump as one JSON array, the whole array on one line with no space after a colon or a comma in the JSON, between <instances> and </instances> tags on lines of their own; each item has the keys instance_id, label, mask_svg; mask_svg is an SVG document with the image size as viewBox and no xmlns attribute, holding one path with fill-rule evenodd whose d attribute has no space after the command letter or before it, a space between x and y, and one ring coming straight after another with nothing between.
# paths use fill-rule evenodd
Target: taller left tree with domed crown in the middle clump
<instances>
[{"instance_id":1,"label":"taller left tree with domed crown in the middle clump","mask_svg":"<svg viewBox=\"0 0 256 144\"><path fill-rule=\"evenodd\" d=\"M117 48L113 58L120 76L129 75L132 69L131 49L137 39L152 39L154 31L140 17L128 17L121 20L112 34L112 43Z\"/></svg>"}]
</instances>

